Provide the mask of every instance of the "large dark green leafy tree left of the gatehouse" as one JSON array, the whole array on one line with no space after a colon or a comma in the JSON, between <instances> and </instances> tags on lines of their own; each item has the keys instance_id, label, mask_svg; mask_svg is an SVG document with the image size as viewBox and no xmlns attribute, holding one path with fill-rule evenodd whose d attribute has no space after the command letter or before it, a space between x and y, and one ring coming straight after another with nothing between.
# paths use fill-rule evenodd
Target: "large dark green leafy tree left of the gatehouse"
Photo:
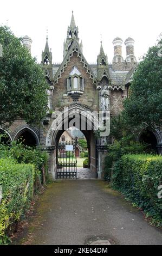
<instances>
[{"instance_id":1,"label":"large dark green leafy tree left of the gatehouse","mask_svg":"<svg viewBox=\"0 0 162 256\"><path fill-rule=\"evenodd\" d=\"M6 26L0 27L0 44L0 125L9 125L16 118L38 125L48 105L48 84L41 66Z\"/></svg>"}]
</instances>

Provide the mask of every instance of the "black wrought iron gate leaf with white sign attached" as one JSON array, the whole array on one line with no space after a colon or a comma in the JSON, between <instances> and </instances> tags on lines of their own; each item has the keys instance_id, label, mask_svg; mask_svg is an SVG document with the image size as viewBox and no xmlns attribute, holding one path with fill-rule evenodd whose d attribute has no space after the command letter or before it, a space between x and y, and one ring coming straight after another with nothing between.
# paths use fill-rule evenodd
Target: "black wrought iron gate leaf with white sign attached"
<instances>
[{"instance_id":1,"label":"black wrought iron gate leaf with white sign attached","mask_svg":"<svg viewBox=\"0 0 162 256\"><path fill-rule=\"evenodd\" d=\"M76 179L76 144L75 142L59 142L57 145L57 179Z\"/></svg>"}]
</instances>

